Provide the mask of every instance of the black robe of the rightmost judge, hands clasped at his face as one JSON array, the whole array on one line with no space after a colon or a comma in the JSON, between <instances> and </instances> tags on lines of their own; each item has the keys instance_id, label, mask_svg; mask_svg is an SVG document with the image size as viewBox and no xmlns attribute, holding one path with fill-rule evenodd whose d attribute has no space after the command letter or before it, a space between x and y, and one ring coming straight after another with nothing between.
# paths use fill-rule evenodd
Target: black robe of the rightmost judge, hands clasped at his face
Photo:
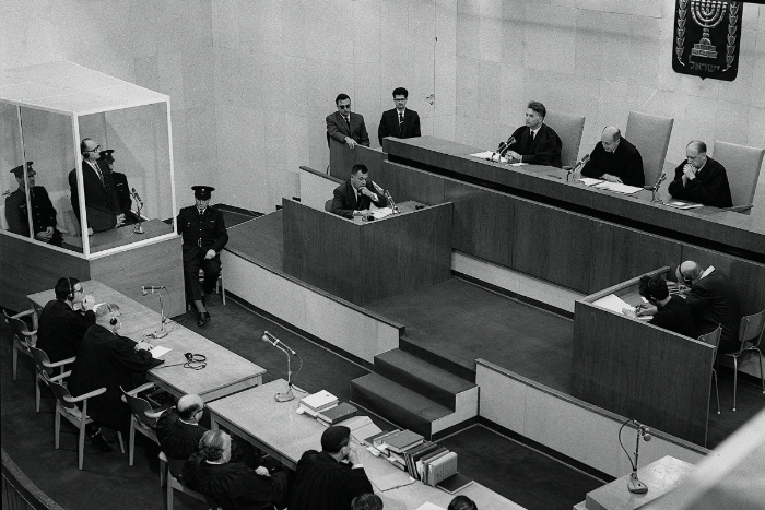
<instances>
[{"instance_id":1,"label":"black robe of the rightmost judge, hands clasped at his face","mask_svg":"<svg viewBox=\"0 0 765 510\"><path fill-rule=\"evenodd\" d=\"M674 180L669 186L669 192L672 197L714 207L730 207L733 205L725 166L711 157L707 157L706 165L696 174L696 178L683 186L684 166L685 162L678 165L674 169Z\"/></svg>"}]
</instances>

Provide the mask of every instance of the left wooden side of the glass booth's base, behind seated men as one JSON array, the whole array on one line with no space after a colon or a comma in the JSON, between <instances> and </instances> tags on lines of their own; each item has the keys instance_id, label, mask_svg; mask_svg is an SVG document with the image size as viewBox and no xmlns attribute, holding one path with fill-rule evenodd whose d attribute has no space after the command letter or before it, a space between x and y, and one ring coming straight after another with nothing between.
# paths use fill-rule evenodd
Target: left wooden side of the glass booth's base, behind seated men
<instances>
[{"instance_id":1,"label":"left wooden side of the glass booth's base, behind seated men","mask_svg":"<svg viewBox=\"0 0 765 510\"><path fill-rule=\"evenodd\" d=\"M52 288L60 277L91 277L85 259L4 234L0 234L0 305L15 311L28 309L26 296Z\"/></svg>"}]
</instances>

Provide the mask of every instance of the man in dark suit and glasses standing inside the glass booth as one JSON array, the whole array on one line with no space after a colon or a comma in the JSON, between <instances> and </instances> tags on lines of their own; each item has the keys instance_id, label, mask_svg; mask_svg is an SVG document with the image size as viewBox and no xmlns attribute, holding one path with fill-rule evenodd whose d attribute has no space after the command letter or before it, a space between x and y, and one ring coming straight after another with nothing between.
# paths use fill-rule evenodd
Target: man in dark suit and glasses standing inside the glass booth
<instances>
[{"instance_id":1,"label":"man in dark suit and glasses standing inside the glass booth","mask_svg":"<svg viewBox=\"0 0 765 510\"><path fill-rule=\"evenodd\" d=\"M83 139L80 143L82 154L82 183L85 194L85 214L87 215L89 234L109 230L125 223L125 214L119 204L117 190L111 178L111 170L103 163L101 145L92 139ZM69 173L69 188L74 215L80 218L80 195L78 194L76 170Z\"/></svg>"}]
</instances>

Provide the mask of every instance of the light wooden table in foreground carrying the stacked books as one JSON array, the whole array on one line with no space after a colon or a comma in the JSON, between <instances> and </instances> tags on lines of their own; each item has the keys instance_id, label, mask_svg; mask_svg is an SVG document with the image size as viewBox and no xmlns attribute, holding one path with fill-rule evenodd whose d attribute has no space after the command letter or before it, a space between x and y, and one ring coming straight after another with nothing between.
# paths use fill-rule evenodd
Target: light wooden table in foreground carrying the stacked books
<instances>
[{"instance_id":1,"label":"light wooden table in foreground carrying the stacked books","mask_svg":"<svg viewBox=\"0 0 765 510\"><path fill-rule=\"evenodd\" d=\"M211 402L208 408L212 428L225 427L294 470L303 452L321 450L321 434L326 427L308 416L295 413L299 396L291 402L274 401L273 395L285 390L286 381L278 379ZM360 460L373 484L382 476L397 473L403 475L388 461L373 456L365 448L357 448ZM378 494L384 499L386 510L415 509L425 501L446 508L454 498L420 482ZM473 499L482 510L522 509L475 482L459 494Z\"/></svg>"}]
</instances>

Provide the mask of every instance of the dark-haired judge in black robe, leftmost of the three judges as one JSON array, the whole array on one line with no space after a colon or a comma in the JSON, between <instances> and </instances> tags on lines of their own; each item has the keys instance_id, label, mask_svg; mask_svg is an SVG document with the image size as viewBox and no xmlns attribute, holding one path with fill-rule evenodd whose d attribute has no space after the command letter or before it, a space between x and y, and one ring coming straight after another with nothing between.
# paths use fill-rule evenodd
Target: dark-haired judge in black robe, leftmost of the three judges
<instances>
[{"instance_id":1,"label":"dark-haired judge in black robe, leftmost of the three judges","mask_svg":"<svg viewBox=\"0 0 765 510\"><path fill-rule=\"evenodd\" d=\"M563 143L550 126L544 123L548 109L543 104L532 100L526 108L526 126L513 132L515 141L506 153L511 163L530 163L550 165L561 168L561 149Z\"/></svg>"}]
</instances>

